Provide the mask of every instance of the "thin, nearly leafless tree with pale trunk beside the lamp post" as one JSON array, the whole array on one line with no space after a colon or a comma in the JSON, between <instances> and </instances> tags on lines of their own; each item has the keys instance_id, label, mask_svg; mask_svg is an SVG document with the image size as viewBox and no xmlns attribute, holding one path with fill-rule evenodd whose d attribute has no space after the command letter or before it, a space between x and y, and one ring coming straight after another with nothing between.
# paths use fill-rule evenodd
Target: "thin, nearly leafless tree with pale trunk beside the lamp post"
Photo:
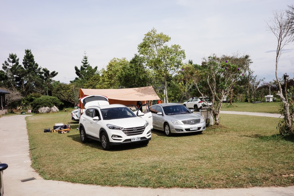
<instances>
[{"instance_id":1,"label":"thin, nearly leafless tree with pale trunk beside the lamp post","mask_svg":"<svg viewBox=\"0 0 294 196\"><path fill-rule=\"evenodd\" d=\"M289 100L287 97L287 93L283 95L283 90L281 87L281 83L278 80L278 62L279 58L283 53L283 47L294 39L294 34L291 31L294 28L294 18L289 17L289 14L283 10L275 10L273 11L273 18L271 18L267 22L268 31L271 31L277 38L277 53L276 53L276 62L275 62L275 75L278 83L278 93L283 104L284 104L284 118L285 124L280 126L281 134L294 134L294 128L292 124L292 119L289 110Z\"/></svg>"}]
</instances>

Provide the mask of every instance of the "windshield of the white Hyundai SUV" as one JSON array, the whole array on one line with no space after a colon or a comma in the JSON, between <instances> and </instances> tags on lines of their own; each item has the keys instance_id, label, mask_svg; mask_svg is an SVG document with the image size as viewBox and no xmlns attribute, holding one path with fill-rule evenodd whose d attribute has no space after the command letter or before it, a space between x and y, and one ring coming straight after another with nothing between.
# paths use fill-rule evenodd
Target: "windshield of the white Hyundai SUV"
<instances>
[{"instance_id":1,"label":"windshield of the white Hyundai SUV","mask_svg":"<svg viewBox=\"0 0 294 196\"><path fill-rule=\"evenodd\" d=\"M103 120L133 118L136 115L127 107L101 109Z\"/></svg>"}]
</instances>

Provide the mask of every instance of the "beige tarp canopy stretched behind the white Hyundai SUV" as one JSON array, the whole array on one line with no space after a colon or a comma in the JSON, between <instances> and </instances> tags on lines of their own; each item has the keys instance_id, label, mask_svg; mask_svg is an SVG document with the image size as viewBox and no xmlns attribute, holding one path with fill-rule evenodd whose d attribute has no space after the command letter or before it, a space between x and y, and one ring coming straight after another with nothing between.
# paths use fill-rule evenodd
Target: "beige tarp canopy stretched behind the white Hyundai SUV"
<instances>
[{"instance_id":1,"label":"beige tarp canopy stretched behind the white Hyundai SUV","mask_svg":"<svg viewBox=\"0 0 294 196\"><path fill-rule=\"evenodd\" d=\"M108 98L109 104L136 105L137 101L142 104L147 101L160 100L152 86L140 88L121 88L121 89L86 89L80 88L80 98L88 95L103 95Z\"/></svg>"}]
</instances>

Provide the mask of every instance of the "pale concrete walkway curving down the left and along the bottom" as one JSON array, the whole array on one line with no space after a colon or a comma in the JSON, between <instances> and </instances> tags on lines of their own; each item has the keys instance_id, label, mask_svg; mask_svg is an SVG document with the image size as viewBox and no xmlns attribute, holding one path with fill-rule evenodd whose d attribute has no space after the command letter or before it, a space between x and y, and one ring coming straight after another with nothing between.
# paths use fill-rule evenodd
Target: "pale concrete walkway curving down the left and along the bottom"
<instances>
[{"instance_id":1,"label":"pale concrete walkway curving down the left and along the bottom","mask_svg":"<svg viewBox=\"0 0 294 196\"><path fill-rule=\"evenodd\" d=\"M4 196L39 195L294 195L292 187L254 187L241 189L152 189L136 187L102 187L44 180L31 168L26 115L0 118L0 160L4 170ZM73 168L74 169L74 168ZM35 177L36 180L20 180Z\"/></svg>"}]
</instances>

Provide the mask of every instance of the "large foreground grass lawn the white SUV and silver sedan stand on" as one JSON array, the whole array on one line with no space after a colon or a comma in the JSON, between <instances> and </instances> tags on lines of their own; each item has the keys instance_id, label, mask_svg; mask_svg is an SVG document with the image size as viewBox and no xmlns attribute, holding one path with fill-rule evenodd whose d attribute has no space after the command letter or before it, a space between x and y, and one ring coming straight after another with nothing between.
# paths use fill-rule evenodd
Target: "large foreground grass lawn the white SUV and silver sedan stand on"
<instances>
[{"instance_id":1,"label":"large foreground grass lawn the white SUV and silver sedan stand on","mask_svg":"<svg viewBox=\"0 0 294 196\"><path fill-rule=\"evenodd\" d=\"M104 151L70 133L44 133L66 113L26 117L32 166L44 179L132 187L290 186L294 139L276 134L278 118L221 114L222 127L166 137L152 131L148 146ZM70 114L67 114L69 119ZM283 176L285 175L285 176Z\"/></svg>"}]
</instances>

